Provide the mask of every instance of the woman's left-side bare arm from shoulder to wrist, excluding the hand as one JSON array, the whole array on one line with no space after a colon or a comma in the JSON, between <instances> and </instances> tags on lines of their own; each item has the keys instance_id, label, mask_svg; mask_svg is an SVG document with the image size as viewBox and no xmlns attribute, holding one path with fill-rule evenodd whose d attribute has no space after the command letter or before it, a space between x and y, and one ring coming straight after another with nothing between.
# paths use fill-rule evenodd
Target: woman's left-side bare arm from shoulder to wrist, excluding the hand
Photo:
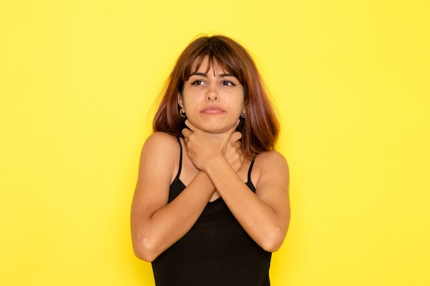
<instances>
[{"instance_id":1,"label":"woman's left-side bare arm from shoulder to wrist, excluding the hand","mask_svg":"<svg viewBox=\"0 0 430 286\"><path fill-rule=\"evenodd\" d=\"M176 175L175 160L179 165L179 152L177 139L161 132L152 134L142 148L131 206L131 237L139 259L153 261L181 239L215 191L207 175L200 171L168 204L170 182Z\"/></svg>"}]
</instances>

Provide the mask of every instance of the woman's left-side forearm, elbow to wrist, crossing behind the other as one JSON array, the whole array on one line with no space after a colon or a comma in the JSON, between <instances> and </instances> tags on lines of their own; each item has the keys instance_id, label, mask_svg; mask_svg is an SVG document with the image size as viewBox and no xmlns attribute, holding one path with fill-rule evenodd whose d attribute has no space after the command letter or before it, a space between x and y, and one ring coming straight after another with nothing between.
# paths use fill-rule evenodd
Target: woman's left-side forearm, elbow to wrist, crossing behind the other
<instances>
[{"instance_id":1,"label":"woman's left-side forearm, elbow to wrist, crossing behind the other","mask_svg":"<svg viewBox=\"0 0 430 286\"><path fill-rule=\"evenodd\" d=\"M192 228L215 188L203 171L169 204L155 211L139 231L137 256L153 261Z\"/></svg>"}]
</instances>

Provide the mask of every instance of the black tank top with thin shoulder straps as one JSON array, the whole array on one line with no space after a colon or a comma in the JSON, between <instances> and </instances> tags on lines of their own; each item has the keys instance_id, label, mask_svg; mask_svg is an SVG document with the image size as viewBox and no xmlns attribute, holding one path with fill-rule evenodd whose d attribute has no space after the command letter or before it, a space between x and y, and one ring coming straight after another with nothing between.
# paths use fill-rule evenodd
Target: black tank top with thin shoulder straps
<instances>
[{"instance_id":1,"label":"black tank top with thin shoulder straps","mask_svg":"<svg viewBox=\"0 0 430 286\"><path fill-rule=\"evenodd\" d=\"M179 139L178 139L179 140ZM180 143L180 141L179 141ZM177 177L170 185L169 202L185 189ZM256 189L251 182L250 191ZM157 286L269 286L271 252L247 235L222 198L209 202L196 224L152 262Z\"/></svg>"}]
</instances>

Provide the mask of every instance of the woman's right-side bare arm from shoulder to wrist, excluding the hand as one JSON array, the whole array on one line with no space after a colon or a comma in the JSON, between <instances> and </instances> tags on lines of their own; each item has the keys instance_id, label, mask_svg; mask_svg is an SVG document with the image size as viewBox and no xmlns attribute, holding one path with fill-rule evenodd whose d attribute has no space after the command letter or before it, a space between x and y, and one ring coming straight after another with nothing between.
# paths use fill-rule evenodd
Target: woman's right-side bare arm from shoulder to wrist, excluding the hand
<instances>
[{"instance_id":1,"label":"woman's right-side bare arm from shoulder to wrist, excluding the hand","mask_svg":"<svg viewBox=\"0 0 430 286\"><path fill-rule=\"evenodd\" d=\"M249 191L222 157L203 167L242 228L269 252L280 248L290 220L288 165L278 152L256 158L256 193Z\"/></svg>"}]
</instances>

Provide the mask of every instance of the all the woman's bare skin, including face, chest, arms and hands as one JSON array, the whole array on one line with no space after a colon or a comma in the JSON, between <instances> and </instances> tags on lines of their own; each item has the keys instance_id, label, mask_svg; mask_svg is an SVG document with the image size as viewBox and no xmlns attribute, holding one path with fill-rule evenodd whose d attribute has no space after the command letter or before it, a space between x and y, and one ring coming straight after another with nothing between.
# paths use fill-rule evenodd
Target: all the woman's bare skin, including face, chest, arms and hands
<instances>
[{"instance_id":1,"label":"all the woman's bare skin, including face, chest, arms and hands","mask_svg":"<svg viewBox=\"0 0 430 286\"><path fill-rule=\"evenodd\" d=\"M180 180L186 188L168 204L171 182L179 169L181 147L163 132L152 134L142 148L139 178L131 209L133 250L153 261L181 239L207 202L223 198L242 228L264 250L274 252L284 241L290 219L288 165L278 152L258 154L251 172L256 187L245 185L251 162L242 156L240 112L245 112L243 87L216 63L185 82L178 104L187 113L181 139Z\"/></svg>"}]
</instances>

